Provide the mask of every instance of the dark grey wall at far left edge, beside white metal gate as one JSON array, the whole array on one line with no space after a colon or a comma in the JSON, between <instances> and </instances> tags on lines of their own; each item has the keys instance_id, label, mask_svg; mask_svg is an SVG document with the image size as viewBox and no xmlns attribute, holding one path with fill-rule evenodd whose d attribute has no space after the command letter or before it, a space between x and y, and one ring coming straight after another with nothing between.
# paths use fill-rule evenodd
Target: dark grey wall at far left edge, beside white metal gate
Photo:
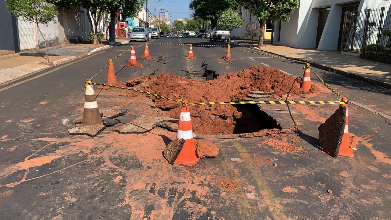
<instances>
[{"instance_id":1,"label":"dark grey wall at far left edge, beside white metal gate","mask_svg":"<svg viewBox=\"0 0 391 220\"><path fill-rule=\"evenodd\" d=\"M0 55L19 52L18 41L15 42L16 36L14 36L16 34L16 19L8 12L4 1L0 1L0 19L2 21L0 23Z\"/></svg>"}]
</instances>

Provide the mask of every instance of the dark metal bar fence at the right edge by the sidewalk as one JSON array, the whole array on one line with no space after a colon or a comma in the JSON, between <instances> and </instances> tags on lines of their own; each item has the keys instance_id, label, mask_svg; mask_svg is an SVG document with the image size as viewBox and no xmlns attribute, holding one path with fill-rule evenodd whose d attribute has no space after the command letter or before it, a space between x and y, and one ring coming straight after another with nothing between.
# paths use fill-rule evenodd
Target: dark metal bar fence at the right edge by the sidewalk
<instances>
[{"instance_id":1,"label":"dark metal bar fence at the right edge by the sidewalk","mask_svg":"<svg viewBox=\"0 0 391 220\"><path fill-rule=\"evenodd\" d=\"M345 12L341 40L343 51L391 56L390 8Z\"/></svg>"}]
</instances>

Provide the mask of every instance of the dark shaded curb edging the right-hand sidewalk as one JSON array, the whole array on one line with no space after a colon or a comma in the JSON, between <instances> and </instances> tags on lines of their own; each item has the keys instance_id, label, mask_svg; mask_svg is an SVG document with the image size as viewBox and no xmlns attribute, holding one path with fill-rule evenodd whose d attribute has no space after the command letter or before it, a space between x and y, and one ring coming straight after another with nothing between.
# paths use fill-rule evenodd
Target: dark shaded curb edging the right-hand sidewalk
<instances>
[{"instance_id":1,"label":"dark shaded curb edging the right-hand sidewalk","mask_svg":"<svg viewBox=\"0 0 391 220\"><path fill-rule=\"evenodd\" d=\"M230 41L230 42L233 43L234 41ZM234 43L234 44L235 45L239 45L237 43ZM315 62L308 61L308 60L303 60L303 59L283 56L283 55L280 55L280 54L276 54L276 53L273 53L273 52L269 52L269 51L266 51L266 50L259 49L258 47L252 47L252 46L247 46L247 45L239 45L239 46L241 46L241 47L248 47L248 48L255 49L255 50L260 50L260 51L263 51L263 52L266 52L266 53L269 53L269 54L274 54L276 56L281 56L283 58L287 58L287 59L291 59L291 60L298 60L298 61L306 62L306 63L309 63L311 65L311 67L315 67L315 68L318 68L318 69L321 69L321 70L328 71L328 70L332 69L332 70L336 71L335 72L336 74L347 76L347 77L353 78L353 79L357 79L359 81L363 81L363 82L366 82L366 83L369 83L369 84L372 84L372 85L376 85L376 86L379 86L379 87L391 89L391 83L387 83L387 82L380 81L380 80L377 80L377 79L373 79L373 78L369 78L369 77L366 77L366 76L362 76L360 74L356 74L356 73L352 73L352 72L346 72L344 70L339 70L339 69L334 69L332 67L321 65L319 63L315 63Z\"/></svg>"}]
</instances>

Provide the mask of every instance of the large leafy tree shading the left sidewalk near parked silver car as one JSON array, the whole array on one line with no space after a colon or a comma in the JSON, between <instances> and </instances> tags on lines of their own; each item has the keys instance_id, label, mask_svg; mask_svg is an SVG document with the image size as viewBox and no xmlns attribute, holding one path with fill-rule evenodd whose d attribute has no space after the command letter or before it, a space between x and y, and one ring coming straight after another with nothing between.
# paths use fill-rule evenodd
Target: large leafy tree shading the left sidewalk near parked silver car
<instances>
[{"instance_id":1,"label":"large leafy tree shading the left sidewalk near parked silver car","mask_svg":"<svg viewBox=\"0 0 391 220\"><path fill-rule=\"evenodd\" d=\"M114 27L113 22L115 22L115 17L117 13L120 12L122 18L131 18L134 17L140 12L142 4L145 0L49 0L52 4L58 5L59 7L70 7L70 6L79 6L88 9L88 21L90 22L90 31L94 32L92 43L98 44L97 35L98 35L98 25L100 18L102 18L105 12L111 14L112 27ZM111 35L115 36L115 29L111 29Z\"/></svg>"}]
</instances>

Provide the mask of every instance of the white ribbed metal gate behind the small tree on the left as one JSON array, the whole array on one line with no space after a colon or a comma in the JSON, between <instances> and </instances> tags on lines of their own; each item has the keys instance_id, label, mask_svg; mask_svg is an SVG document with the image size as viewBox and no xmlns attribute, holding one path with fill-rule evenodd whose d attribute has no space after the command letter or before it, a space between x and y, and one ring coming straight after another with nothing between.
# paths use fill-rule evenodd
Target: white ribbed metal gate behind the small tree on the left
<instances>
[{"instance_id":1,"label":"white ribbed metal gate behind the small tree on the left","mask_svg":"<svg viewBox=\"0 0 391 220\"><path fill-rule=\"evenodd\" d=\"M20 50L35 48L35 36L33 23L25 22L18 17L18 35Z\"/></svg>"}]
</instances>

